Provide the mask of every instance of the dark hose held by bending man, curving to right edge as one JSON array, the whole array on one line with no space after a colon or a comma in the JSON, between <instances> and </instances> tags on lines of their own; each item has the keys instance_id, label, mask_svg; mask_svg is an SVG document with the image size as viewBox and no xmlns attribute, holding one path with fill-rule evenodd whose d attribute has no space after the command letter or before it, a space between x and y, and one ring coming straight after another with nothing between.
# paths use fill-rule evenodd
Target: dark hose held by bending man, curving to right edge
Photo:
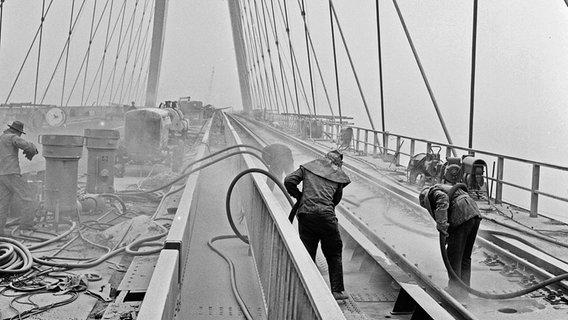
<instances>
[{"instance_id":1,"label":"dark hose held by bending man, curving to right edge","mask_svg":"<svg viewBox=\"0 0 568 320\"><path fill-rule=\"evenodd\" d=\"M466 187L465 184L463 183L458 183L456 185L454 185L450 191L448 192L448 198L452 199L454 193L456 192L457 189ZM467 190L467 187L466 187ZM568 279L568 273L563 273L561 275L558 275L556 277L552 277L549 278L545 281L539 282L533 286L530 286L528 288L519 290L519 291L514 291L514 292L510 292L510 293L502 293L502 294L491 294L491 293L487 293L487 292L481 292L478 290L473 289L472 287L470 287L469 285L467 285L466 283L464 283L461 278L456 274L456 272L454 271L454 269L452 268L451 264L450 264L450 259L448 258L448 253L446 251L446 235L444 235L443 233L440 232L440 251L442 253L442 259L444 261L444 266L446 267L446 269L448 270L448 273L450 274L450 278L452 278L452 280L455 280L460 287L462 287L463 289L465 289L467 292L481 297L481 298L485 298L485 299L511 299L511 298L516 298L516 297L520 297L522 295L525 295L527 293L536 291L540 288L544 288L550 284Z\"/></svg>"}]
</instances>

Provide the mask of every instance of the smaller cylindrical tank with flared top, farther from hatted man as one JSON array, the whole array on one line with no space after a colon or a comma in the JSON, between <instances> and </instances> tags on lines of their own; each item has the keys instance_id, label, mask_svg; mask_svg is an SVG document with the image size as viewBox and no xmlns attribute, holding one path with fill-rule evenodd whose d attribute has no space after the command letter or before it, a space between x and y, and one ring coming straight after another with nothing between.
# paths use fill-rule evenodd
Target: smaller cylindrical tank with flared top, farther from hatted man
<instances>
[{"instance_id":1,"label":"smaller cylindrical tank with flared top, farther from hatted man","mask_svg":"<svg viewBox=\"0 0 568 320\"><path fill-rule=\"evenodd\" d=\"M114 192L114 163L120 132L85 129L87 193Z\"/></svg>"}]
</instances>

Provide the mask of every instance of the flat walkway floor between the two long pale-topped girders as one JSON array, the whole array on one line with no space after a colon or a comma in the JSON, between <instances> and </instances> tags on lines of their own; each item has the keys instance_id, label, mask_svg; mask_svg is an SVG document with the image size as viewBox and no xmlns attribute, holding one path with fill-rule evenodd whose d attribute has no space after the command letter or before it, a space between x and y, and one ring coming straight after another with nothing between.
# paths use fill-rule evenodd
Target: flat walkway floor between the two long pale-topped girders
<instances>
[{"instance_id":1,"label":"flat walkway floor between the two long pale-topped girders","mask_svg":"<svg viewBox=\"0 0 568 320\"><path fill-rule=\"evenodd\" d=\"M232 177L221 161L200 176L200 199L192 230L188 262L183 275L181 309L176 319L243 319L231 289L227 262L208 246L214 237L234 235L225 213L225 193ZM219 240L213 245L235 266L235 281L242 300L254 318L266 319L262 290L258 284L249 247L238 238Z\"/></svg>"}]
</instances>

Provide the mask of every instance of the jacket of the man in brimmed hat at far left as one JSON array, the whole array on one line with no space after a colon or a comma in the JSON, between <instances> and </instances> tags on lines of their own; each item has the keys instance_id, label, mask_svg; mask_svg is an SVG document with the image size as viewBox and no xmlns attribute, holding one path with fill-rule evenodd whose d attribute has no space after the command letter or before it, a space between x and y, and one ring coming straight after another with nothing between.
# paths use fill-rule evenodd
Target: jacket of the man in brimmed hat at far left
<instances>
[{"instance_id":1,"label":"jacket of the man in brimmed hat at far left","mask_svg":"<svg viewBox=\"0 0 568 320\"><path fill-rule=\"evenodd\" d=\"M37 153L37 148L33 143L22 139L9 129L5 130L0 135L0 176L21 173L18 160L19 149L31 154Z\"/></svg>"}]
</instances>

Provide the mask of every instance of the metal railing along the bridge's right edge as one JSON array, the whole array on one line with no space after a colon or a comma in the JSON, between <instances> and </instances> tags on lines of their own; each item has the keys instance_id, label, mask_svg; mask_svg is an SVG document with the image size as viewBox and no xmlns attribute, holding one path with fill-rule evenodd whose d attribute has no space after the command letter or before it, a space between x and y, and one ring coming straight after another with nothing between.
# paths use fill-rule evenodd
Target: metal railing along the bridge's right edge
<instances>
[{"instance_id":1,"label":"metal railing along the bridge's right edge","mask_svg":"<svg viewBox=\"0 0 568 320\"><path fill-rule=\"evenodd\" d=\"M275 116L273 121L278 122L283 128L296 130L294 132L297 132L299 126L299 118L293 115ZM542 188L543 169L552 170L553 175L566 174L566 178L568 178L568 167L450 145L439 141L371 130L353 125L340 125L337 122L318 122L322 126L324 138L336 141L339 145L342 130L351 128L353 130L353 138L350 148L353 151L359 154L372 155L376 158L381 157L396 166L401 166L401 163L407 164L410 158L418 153L433 153L432 148L436 146L440 147L441 158L443 158L444 155L446 158L474 155L476 158L484 160L487 164L493 163L491 174L489 174L489 172L487 173L488 184L491 185L491 187L488 187L488 196L493 199L496 204L506 203L521 207L529 211L531 217L536 217L538 213L540 213L539 201L541 197L550 201L559 201L562 206L568 207L568 197L554 192L546 192ZM392 145L393 142L395 144L394 146ZM530 169L517 169L517 167L522 165L529 166ZM516 175L517 177L529 176L530 182L514 182L515 177L505 175L506 167L518 170L520 173ZM554 184L552 187L556 190L561 189L557 188ZM521 199L515 198L515 194L519 191L525 194L528 193L528 201L526 196L521 197ZM519 204L518 202L524 202L525 204Z\"/></svg>"}]
</instances>

